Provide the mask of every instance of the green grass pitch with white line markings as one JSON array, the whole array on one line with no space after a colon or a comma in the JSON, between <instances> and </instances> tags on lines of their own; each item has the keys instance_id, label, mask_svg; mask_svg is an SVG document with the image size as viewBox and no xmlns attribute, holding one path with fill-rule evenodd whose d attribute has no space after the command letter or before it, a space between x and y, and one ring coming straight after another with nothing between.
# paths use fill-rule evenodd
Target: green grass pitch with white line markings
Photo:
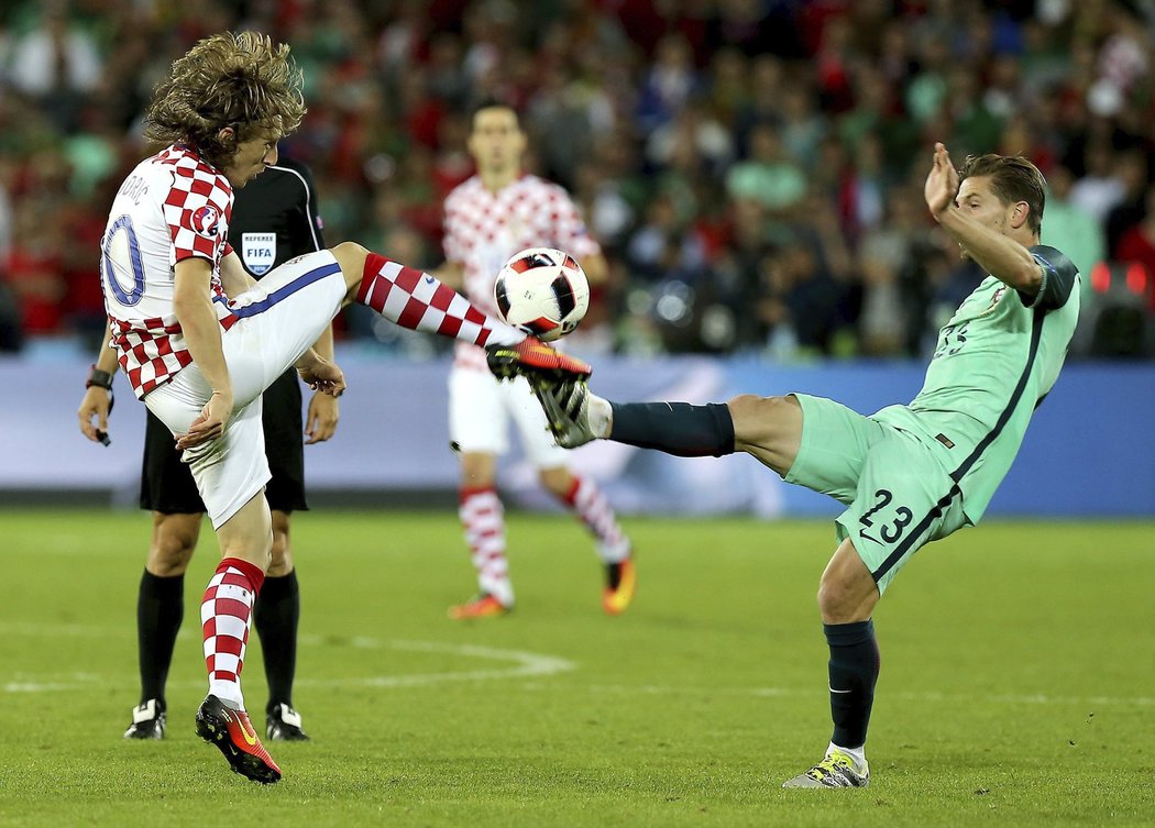
<instances>
[{"instance_id":1,"label":"green grass pitch with white line markings","mask_svg":"<svg viewBox=\"0 0 1155 828\"><path fill-rule=\"evenodd\" d=\"M462 625L455 515L298 515L313 741L271 744L285 777L262 788L193 733L208 524L169 738L137 744L120 733L150 519L0 512L0 825L1155 826L1152 523L992 521L923 549L875 613L858 791L780 788L829 738L829 522L626 523L626 614L602 614L576 523L513 514L517 610ZM244 681L262 711L255 634Z\"/></svg>"}]
</instances>

